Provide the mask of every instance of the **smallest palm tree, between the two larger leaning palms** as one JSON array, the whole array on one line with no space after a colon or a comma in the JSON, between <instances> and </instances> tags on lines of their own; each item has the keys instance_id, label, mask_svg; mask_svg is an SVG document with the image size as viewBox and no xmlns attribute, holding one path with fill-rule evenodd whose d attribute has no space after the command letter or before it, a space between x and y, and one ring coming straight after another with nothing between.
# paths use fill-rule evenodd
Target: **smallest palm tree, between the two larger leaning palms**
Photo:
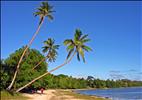
<instances>
[{"instance_id":1,"label":"smallest palm tree, between the two larger leaning palms","mask_svg":"<svg viewBox=\"0 0 142 100\"><path fill-rule=\"evenodd\" d=\"M37 65L35 65L35 67L33 67L33 70L38 67L43 61L45 61L46 59L48 59L49 62L55 62L56 57L58 55L57 53L57 49L59 48L59 45L55 45L55 41L54 39L49 38L47 41L44 41L44 47L42 52L43 53L47 53L46 57L43 58Z\"/></svg>"}]
</instances>

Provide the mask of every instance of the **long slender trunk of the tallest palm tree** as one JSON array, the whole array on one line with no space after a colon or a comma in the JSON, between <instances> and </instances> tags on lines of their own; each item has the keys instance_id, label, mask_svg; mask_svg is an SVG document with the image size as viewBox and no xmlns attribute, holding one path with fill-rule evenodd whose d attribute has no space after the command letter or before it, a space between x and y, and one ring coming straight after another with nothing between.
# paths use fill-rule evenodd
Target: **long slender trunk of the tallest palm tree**
<instances>
[{"instance_id":1,"label":"long slender trunk of the tallest palm tree","mask_svg":"<svg viewBox=\"0 0 142 100\"><path fill-rule=\"evenodd\" d=\"M13 77L13 79L12 79L10 85L8 86L7 90L10 90L10 89L12 88L12 86L13 86L13 84L14 84L14 81L15 81L15 79L16 79L17 73L18 73L18 69L19 69L20 64L21 64L21 62L22 62L22 59L23 59L23 57L24 57L26 51L28 50L28 48L31 46L33 40L34 40L35 37L37 36L37 34L38 34L39 30L40 30L40 27L41 27L41 25L42 25L42 23L43 23L43 20L44 20L44 18L41 18L40 24L39 24L39 26L38 26L38 28L37 28L35 34L33 35L32 39L31 39L30 42L29 42L29 44L26 46L26 48L25 48L25 50L24 50L24 52L23 52L23 54L22 54L22 56L21 56L21 58L20 58L20 60L19 60L19 62L18 62L18 65L17 65L17 67L16 67L16 71L15 71L15 73L14 73L14 77Z\"/></svg>"}]
</instances>

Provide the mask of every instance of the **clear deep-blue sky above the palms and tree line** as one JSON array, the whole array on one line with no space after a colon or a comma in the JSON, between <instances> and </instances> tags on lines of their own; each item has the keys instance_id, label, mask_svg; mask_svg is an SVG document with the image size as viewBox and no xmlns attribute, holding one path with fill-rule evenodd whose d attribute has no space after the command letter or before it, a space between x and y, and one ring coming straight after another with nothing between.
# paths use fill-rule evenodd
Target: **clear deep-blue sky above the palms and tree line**
<instances>
[{"instance_id":1,"label":"clear deep-blue sky above the palms and tree line","mask_svg":"<svg viewBox=\"0 0 142 100\"><path fill-rule=\"evenodd\" d=\"M64 62L67 51L63 45L75 29L89 34L86 45L93 51L85 53L86 63L73 60L53 74L74 77L142 80L141 33L142 2L140 1L49 1L56 12L54 20L44 21L31 48L42 51L43 41L54 38L60 44L55 63L48 70ZM39 1L2 1L1 58L26 45L38 26L39 17L33 13Z\"/></svg>"}]
</instances>

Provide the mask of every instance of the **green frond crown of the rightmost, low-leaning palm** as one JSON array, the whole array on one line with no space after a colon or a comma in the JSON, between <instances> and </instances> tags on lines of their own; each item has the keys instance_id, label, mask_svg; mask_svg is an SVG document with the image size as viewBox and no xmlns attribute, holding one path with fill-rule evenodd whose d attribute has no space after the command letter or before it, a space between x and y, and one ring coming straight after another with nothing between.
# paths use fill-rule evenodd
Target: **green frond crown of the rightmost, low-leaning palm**
<instances>
[{"instance_id":1,"label":"green frond crown of the rightmost, low-leaning palm","mask_svg":"<svg viewBox=\"0 0 142 100\"><path fill-rule=\"evenodd\" d=\"M77 53L77 59L80 61L80 55L85 62L84 51L92 51L92 49L85 45L86 42L90 41L87 38L88 35L83 35L79 29L76 29L74 39L66 39L64 41L64 45L67 46L67 51L69 52L67 55L67 59L70 55L75 51Z\"/></svg>"}]
</instances>

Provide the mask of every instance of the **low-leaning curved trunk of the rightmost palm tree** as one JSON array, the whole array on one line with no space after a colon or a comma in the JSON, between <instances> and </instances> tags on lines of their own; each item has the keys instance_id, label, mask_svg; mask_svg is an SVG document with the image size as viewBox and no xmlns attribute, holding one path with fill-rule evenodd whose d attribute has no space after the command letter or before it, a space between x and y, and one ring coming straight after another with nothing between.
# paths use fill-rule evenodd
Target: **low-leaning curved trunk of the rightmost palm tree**
<instances>
[{"instance_id":1,"label":"low-leaning curved trunk of the rightmost palm tree","mask_svg":"<svg viewBox=\"0 0 142 100\"><path fill-rule=\"evenodd\" d=\"M32 84L32 83L35 82L36 80L38 80L38 79L42 78L43 76L45 76L45 75L47 75L47 74L49 74L49 73L51 73L51 72L53 72L53 71L55 71L55 70L57 70L57 69L63 67L64 65L68 64L68 63L72 60L72 58L74 57L75 54L76 54L76 51L74 52L74 54L71 56L71 58L70 58L68 61L66 60L66 61L65 61L63 64L61 64L60 66L57 66L56 68L52 69L51 71L46 72L46 73L42 74L41 76L39 76L39 77L33 79L31 82L29 82L29 83L27 83L26 85L24 85L23 87L17 89L16 92L21 91L22 89L24 89L25 87L29 86L30 84Z\"/></svg>"}]
</instances>

